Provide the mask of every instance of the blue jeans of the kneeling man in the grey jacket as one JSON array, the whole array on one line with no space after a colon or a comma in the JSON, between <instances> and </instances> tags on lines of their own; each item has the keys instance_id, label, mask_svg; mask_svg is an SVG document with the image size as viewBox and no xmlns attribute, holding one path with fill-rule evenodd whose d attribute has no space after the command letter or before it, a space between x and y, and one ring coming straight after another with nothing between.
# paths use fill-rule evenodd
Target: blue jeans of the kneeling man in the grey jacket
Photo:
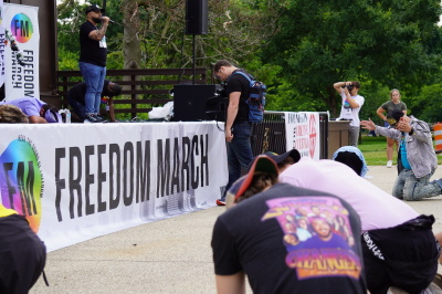
<instances>
[{"instance_id":1,"label":"blue jeans of the kneeling man in the grey jacket","mask_svg":"<svg viewBox=\"0 0 442 294\"><path fill-rule=\"evenodd\" d=\"M434 170L429 175L417 178L411 169L402 169L394 181L392 195L407 201L421 200L442 193L440 180L429 182Z\"/></svg>"}]
</instances>

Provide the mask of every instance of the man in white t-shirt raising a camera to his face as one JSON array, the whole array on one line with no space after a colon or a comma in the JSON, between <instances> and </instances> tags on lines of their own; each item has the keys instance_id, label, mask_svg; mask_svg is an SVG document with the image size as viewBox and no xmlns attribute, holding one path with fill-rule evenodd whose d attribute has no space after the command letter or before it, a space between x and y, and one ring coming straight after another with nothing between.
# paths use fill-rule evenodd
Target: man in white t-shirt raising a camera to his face
<instances>
[{"instance_id":1,"label":"man in white t-shirt raising a camera to his face","mask_svg":"<svg viewBox=\"0 0 442 294\"><path fill-rule=\"evenodd\" d=\"M337 120L350 120L349 145L358 146L359 138L359 111L364 105L365 98L358 95L360 90L359 82L338 82L333 85L343 97L343 106Z\"/></svg>"}]
</instances>

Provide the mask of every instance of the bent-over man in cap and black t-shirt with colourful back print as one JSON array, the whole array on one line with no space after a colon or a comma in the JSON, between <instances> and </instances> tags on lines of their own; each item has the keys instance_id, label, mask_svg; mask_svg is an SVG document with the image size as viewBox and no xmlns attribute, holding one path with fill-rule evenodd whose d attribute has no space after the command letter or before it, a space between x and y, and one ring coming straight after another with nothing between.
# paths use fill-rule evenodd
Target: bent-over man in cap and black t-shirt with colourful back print
<instances>
[{"instance_id":1,"label":"bent-over man in cap and black t-shirt with colourful back print","mask_svg":"<svg viewBox=\"0 0 442 294\"><path fill-rule=\"evenodd\" d=\"M211 241L218 293L244 292L245 275L253 293L367 293L360 242L315 224L322 217L312 207L341 218L351 237L360 235L356 211L326 192L273 185L276 177L274 161L259 156L229 190L236 204L218 218ZM316 225L307 238L301 220Z\"/></svg>"}]
</instances>

